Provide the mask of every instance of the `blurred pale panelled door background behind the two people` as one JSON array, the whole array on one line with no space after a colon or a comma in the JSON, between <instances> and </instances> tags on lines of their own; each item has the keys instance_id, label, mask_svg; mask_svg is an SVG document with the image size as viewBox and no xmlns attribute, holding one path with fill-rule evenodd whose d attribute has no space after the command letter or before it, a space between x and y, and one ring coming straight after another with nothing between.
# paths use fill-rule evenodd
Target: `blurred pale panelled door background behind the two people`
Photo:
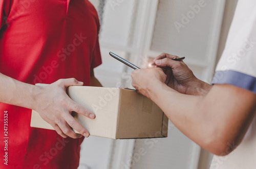
<instances>
[{"instance_id":1,"label":"blurred pale panelled door background behind the two people","mask_svg":"<svg viewBox=\"0 0 256 169\"><path fill-rule=\"evenodd\" d=\"M109 52L142 68L164 52L186 57L196 77L210 83L237 1L90 0L101 23L103 64L95 76L104 87L132 88L132 69ZM169 122L167 138L84 139L79 169L207 169L211 158Z\"/></svg>"}]
</instances>

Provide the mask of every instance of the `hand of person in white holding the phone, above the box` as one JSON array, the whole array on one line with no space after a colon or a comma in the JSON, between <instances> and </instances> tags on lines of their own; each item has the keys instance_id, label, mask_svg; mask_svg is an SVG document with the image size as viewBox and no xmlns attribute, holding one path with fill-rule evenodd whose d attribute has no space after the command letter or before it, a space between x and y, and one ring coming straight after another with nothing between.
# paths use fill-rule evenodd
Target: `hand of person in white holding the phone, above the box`
<instances>
[{"instance_id":1,"label":"hand of person in white holding the phone, above the box","mask_svg":"<svg viewBox=\"0 0 256 169\"><path fill-rule=\"evenodd\" d=\"M166 81L161 68L136 69L132 73L132 85L137 92L150 98L150 89ZM151 99L151 98L150 98Z\"/></svg>"}]
</instances>

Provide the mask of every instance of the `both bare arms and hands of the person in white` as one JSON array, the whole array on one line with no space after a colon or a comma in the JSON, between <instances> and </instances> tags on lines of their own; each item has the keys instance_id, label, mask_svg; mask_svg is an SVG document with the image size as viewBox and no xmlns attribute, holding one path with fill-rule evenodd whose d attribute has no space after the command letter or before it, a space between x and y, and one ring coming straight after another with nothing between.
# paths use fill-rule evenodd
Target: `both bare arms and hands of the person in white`
<instances>
[{"instance_id":1,"label":"both bare arms and hands of the person in white","mask_svg":"<svg viewBox=\"0 0 256 169\"><path fill-rule=\"evenodd\" d=\"M216 155L229 154L251 123L256 94L230 84L209 85L174 58L161 54L155 68L134 70L132 85L199 146ZM164 72L159 67L167 68Z\"/></svg>"}]
</instances>

